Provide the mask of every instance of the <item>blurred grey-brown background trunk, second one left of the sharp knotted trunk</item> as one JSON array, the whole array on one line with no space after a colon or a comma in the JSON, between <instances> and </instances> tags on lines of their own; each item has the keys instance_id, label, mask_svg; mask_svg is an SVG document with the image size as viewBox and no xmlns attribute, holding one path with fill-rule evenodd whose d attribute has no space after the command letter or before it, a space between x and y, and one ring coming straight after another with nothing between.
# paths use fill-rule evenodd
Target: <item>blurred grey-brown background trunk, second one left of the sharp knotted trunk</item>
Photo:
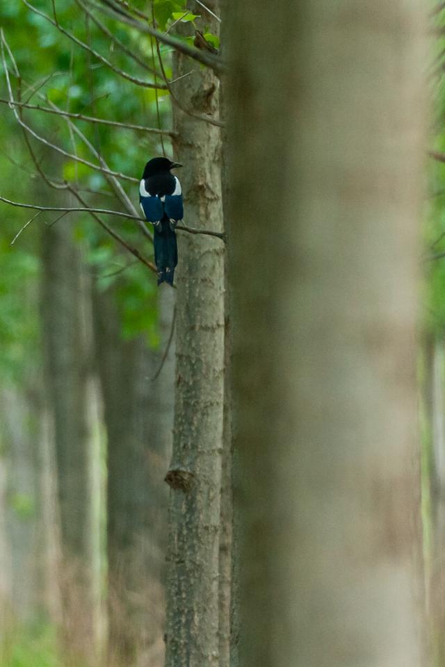
<instances>
[{"instance_id":1,"label":"blurred grey-brown background trunk, second one left of the sharp knotted trunk","mask_svg":"<svg viewBox=\"0 0 445 667\"><path fill-rule=\"evenodd\" d=\"M92 661L99 573L92 499L91 325L79 245L64 223L46 228L42 238L44 354L56 440L65 641L69 657Z\"/></svg>"}]
</instances>

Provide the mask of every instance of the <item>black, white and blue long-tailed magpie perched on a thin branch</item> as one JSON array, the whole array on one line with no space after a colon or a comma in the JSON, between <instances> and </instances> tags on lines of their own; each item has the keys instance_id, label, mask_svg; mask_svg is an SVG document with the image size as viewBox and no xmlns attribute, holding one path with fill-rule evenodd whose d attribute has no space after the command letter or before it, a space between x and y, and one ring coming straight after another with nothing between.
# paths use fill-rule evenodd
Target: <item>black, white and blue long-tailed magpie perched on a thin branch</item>
<instances>
[{"instance_id":1,"label":"black, white and blue long-tailed magpie perched on a thin branch","mask_svg":"<svg viewBox=\"0 0 445 667\"><path fill-rule=\"evenodd\" d=\"M139 183L139 204L147 222L154 227L154 261L158 285L173 285L178 250L175 229L184 217L181 183L172 169L182 167L168 158L152 158L145 165Z\"/></svg>"}]
</instances>

